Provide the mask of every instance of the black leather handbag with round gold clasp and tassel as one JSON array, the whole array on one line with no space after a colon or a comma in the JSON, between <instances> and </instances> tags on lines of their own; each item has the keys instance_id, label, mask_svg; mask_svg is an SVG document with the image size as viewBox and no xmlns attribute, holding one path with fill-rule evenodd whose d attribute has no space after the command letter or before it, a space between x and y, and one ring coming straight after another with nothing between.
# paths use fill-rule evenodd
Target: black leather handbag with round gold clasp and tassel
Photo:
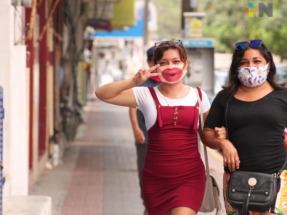
<instances>
[{"instance_id":1,"label":"black leather handbag with round gold clasp and tassel","mask_svg":"<svg viewBox=\"0 0 287 215\"><path fill-rule=\"evenodd\" d=\"M225 104L225 123L227 129L227 108L229 101ZM256 173L235 170L231 173L227 186L227 201L237 210L239 215L247 215L248 211L266 212L272 206L277 194L277 179L286 166L284 165L276 174Z\"/></svg>"}]
</instances>

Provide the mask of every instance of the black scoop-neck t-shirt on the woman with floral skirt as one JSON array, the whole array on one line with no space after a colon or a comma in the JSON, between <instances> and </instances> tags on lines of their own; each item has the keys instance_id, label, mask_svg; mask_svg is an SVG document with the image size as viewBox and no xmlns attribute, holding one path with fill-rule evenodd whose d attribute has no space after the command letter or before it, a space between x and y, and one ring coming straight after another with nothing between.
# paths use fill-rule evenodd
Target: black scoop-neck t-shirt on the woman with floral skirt
<instances>
[{"instance_id":1,"label":"black scoop-neck t-shirt on the woman with floral skirt","mask_svg":"<svg viewBox=\"0 0 287 215\"><path fill-rule=\"evenodd\" d=\"M225 93L212 102L204 127L225 126ZM276 173L286 160L284 129L287 124L287 89L274 89L256 101L230 98L228 136L238 152L241 171ZM224 167L229 172L228 167Z\"/></svg>"}]
</instances>

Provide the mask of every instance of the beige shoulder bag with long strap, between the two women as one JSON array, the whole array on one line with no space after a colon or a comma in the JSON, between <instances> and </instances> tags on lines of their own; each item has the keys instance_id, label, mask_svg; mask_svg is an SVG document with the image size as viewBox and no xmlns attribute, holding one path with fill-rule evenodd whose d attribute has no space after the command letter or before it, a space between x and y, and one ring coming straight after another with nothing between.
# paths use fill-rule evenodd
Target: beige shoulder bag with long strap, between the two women
<instances>
[{"instance_id":1,"label":"beige shoulder bag with long strap, between the two women","mask_svg":"<svg viewBox=\"0 0 287 215\"><path fill-rule=\"evenodd\" d=\"M199 103L199 111L200 111L200 120L201 120L201 130L203 130L203 114L202 114L202 104L201 99L198 94L198 89L194 89L198 103ZM209 173L209 165L208 165L208 156L206 146L203 144L204 149L204 158L205 158L205 172L206 172L206 179L205 179L205 191L204 197L199 209L200 212L208 213L214 211L216 209L216 215L220 214L221 209L221 202L220 202L220 192L218 185L212 175Z\"/></svg>"}]
</instances>

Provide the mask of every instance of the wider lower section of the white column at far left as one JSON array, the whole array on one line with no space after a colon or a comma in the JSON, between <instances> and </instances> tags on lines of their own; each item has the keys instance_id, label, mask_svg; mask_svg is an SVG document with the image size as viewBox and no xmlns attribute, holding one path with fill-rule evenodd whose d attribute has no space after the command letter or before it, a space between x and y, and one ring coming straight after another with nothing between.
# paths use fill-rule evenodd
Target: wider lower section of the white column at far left
<instances>
[{"instance_id":1,"label":"wider lower section of the white column at far left","mask_svg":"<svg viewBox=\"0 0 287 215\"><path fill-rule=\"evenodd\" d=\"M11 195L28 195L29 102L27 99L26 46L14 46L10 70L10 175ZM29 112L28 112L29 113ZM5 149L3 149L5 150Z\"/></svg>"}]
</instances>

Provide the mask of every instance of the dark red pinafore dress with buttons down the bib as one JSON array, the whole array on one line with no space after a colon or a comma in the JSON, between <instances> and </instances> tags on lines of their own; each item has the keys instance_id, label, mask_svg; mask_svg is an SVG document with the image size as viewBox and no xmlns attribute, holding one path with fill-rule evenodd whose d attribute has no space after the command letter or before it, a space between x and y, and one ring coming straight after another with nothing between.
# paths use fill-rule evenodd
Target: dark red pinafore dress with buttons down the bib
<instances>
[{"instance_id":1,"label":"dark red pinafore dress with buttons down the bib","mask_svg":"<svg viewBox=\"0 0 287 215\"><path fill-rule=\"evenodd\" d=\"M149 90L156 103L157 119L148 130L142 175L148 214L161 215L180 206L197 213L205 189L205 169L197 143L199 103L162 106L154 89Z\"/></svg>"}]
</instances>

